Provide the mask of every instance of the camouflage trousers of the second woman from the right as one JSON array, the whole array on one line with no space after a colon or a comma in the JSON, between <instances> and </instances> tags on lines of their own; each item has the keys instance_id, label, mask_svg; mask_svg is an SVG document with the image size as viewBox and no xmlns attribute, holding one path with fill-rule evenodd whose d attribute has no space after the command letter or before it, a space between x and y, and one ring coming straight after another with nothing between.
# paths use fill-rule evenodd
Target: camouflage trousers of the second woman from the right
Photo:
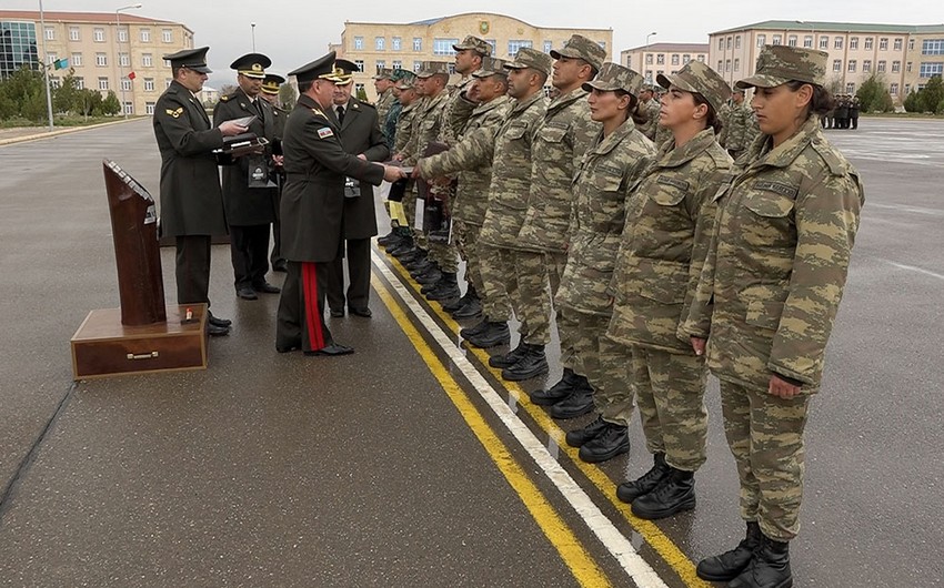
<instances>
[{"instance_id":1,"label":"camouflage trousers of the second woman from the right","mask_svg":"<svg viewBox=\"0 0 944 588\"><path fill-rule=\"evenodd\" d=\"M630 352L646 449L664 453L674 468L696 472L705 463L707 436L704 356L635 345Z\"/></svg>"}]
</instances>

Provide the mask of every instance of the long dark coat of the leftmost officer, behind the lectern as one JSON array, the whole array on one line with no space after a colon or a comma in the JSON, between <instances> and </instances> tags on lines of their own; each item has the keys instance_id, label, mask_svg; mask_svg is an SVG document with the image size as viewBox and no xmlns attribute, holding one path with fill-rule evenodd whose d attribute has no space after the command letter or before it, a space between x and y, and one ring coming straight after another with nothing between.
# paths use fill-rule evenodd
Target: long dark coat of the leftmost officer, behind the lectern
<instances>
[{"instance_id":1,"label":"long dark coat of the leftmost officer, behind the lectern","mask_svg":"<svg viewBox=\"0 0 944 588\"><path fill-rule=\"evenodd\" d=\"M161 152L161 234L224 235L227 216L214 149L223 134L193 94L172 81L154 104Z\"/></svg>"}]
</instances>

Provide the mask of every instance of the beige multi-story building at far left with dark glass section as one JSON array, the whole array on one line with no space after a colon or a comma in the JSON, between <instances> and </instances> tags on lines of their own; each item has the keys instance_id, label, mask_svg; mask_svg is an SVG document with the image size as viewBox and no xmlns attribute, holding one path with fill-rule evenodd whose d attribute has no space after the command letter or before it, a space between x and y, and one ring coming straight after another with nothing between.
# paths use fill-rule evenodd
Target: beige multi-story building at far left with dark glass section
<instances>
[{"instance_id":1,"label":"beige multi-story building at far left with dark glass section","mask_svg":"<svg viewBox=\"0 0 944 588\"><path fill-rule=\"evenodd\" d=\"M193 47L184 24L127 12L43 12L43 23L38 11L0 10L0 78L67 59L66 69L49 67L53 85L71 71L80 88L114 91L128 114L153 114L171 82L162 55Z\"/></svg>"}]
</instances>

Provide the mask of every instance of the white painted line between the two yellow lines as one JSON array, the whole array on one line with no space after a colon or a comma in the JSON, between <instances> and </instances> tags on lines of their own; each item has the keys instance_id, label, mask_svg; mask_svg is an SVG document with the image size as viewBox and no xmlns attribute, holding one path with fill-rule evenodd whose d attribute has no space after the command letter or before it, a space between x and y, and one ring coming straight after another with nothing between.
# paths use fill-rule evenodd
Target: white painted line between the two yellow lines
<instances>
[{"instance_id":1,"label":"white painted line between the two yellow lines","mask_svg":"<svg viewBox=\"0 0 944 588\"><path fill-rule=\"evenodd\" d=\"M564 499L576 510L586 523L590 530L600 539L606 549L620 562L632 580L640 588L662 588L665 582L659 574L636 552L633 545L622 533L606 518L590 496L583 491L561 464L554 459L548 447L531 433L531 429L515 416L508 403L495 392L482 374L465 358L463 349L433 321L413 298L413 295L400 281L386 264L380 258L375 251L371 251L373 264L383 274L393 287L396 296L403 302L413 315L423 324L423 327L432 336L439 346L449 355L449 358L459 367L465 379L475 388L489 407L498 415L509 432L518 439L518 443L528 452L534 462L541 467L554 486L563 495Z\"/></svg>"}]
</instances>

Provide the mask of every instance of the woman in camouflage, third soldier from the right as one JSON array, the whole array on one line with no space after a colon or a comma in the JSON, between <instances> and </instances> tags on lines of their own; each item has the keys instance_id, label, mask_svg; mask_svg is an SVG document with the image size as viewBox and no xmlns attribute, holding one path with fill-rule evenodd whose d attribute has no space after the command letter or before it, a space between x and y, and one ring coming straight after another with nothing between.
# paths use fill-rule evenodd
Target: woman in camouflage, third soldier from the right
<instances>
[{"instance_id":1,"label":"woman in camouflage, third soldier from the right","mask_svg":"<svg viewBox=\"0 0 944 588\"><path fill-rule=\"evenodd\" d=\"M578 317L574 355L601 413L589 426L568 434L568 444L580 447L584 462L603 462L630 450L633 398L625 357L611 353L619 346L603 335L612 312L606 287L623 231L625 196L653 151L631 119L642 84L639 73L615 63L604 63L596 78L583 84L590 92L590 115L603 123L603 130L574 178L568 264L555 302ZM552 406L551 416L562 415L558 412L569 401Z\"/></svg>"}]
</instances>

